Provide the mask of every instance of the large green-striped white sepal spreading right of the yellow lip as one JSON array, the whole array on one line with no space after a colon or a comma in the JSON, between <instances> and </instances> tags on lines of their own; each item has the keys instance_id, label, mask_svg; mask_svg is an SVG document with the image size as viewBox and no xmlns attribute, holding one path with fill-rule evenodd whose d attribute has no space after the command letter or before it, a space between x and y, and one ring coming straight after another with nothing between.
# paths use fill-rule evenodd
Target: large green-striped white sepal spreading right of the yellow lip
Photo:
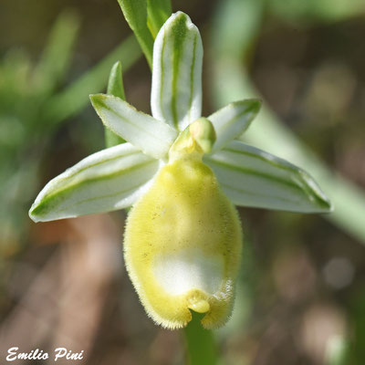
<instances>
[{"instance_id":1,"label":"large green-striped white sepal spreading right of the yellow lip","mask_svg":"<svg viewBox=\"0 0 365 365\"><path fill-rule=\"evenodd\" d=\"M301 213L331 210L328 198L307 172L241 141L231 141L205 162L236 205Z\"/></svg>"}]
</instances>

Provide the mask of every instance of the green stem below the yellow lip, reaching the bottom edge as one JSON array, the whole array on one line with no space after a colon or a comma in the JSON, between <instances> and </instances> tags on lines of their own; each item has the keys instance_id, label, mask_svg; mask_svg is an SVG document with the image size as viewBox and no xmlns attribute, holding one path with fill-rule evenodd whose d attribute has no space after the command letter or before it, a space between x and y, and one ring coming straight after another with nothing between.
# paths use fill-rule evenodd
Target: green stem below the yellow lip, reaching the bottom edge
<instances>
[{"instance_id":1,"label":"green stem below the yellow lip, reaching the bottom edge","mask_svg":"<svg viewBox=\"0 0 365 365\"><path fill-rule=\"evenodd\" d=\"M192 312L192 321L183 329L189 365L215 365L217 354L213 332L204 329L200 323L204 314Z\"/></svg>"}]
</instances>

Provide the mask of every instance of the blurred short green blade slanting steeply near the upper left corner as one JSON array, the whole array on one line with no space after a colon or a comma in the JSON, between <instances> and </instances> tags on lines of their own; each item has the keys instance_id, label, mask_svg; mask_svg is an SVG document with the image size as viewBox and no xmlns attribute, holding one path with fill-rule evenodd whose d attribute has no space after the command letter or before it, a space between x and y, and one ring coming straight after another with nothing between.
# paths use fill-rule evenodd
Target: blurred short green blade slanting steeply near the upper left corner
<instances>
[{"instance_id":1,"label":"blurred short green blade slanting steeply near the upper left corner","mask_svg":"<svg viewBox=\"0 0 365 365\"><path fill-rule=\"evenodd\" d=\"M47 47L35 69L36 88L41 92L49 93L55 89L68 71L78 28L79 20L75 13L65 11L57 17Z\"/></svg>"}]
</instances>

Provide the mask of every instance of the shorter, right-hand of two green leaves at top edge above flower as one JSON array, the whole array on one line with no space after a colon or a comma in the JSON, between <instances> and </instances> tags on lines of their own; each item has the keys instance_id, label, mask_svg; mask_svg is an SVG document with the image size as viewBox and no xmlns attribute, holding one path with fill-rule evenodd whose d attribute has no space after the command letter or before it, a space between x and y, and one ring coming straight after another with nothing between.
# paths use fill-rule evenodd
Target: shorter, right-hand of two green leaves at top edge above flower
<instances>
[{"instance_id":1,"label":"shorter, right-hand of two green leaves at top edge above flower","mask_svg":"<svg viewBox=\"0 0 365 365\"><path fill-rule=\"evenodd\" d=\"M147 25L153 38L157 36L163 23L171 16L170 0L147 0Z\"/></svg>"}]
</instances>

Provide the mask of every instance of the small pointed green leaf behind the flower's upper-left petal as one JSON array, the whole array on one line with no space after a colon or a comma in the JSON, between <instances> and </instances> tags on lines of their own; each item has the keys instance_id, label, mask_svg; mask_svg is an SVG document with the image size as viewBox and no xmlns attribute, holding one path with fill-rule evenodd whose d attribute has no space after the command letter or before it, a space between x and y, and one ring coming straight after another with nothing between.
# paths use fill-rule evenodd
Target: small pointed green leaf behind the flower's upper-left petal
<instances>
[{"instance_id":1,"label":"small pointed green leaf behind the flower's upper-left petal","mask_svg":"<svg viewBox=\"0 0 365 365\"><path fill-rule=\"evenodd\" d=\"M120 61L116 62L110 70L107 93L114 97L125 99ZM113 133L109 128L105 128L105 144L107 147L116 146L123 142L124 140L118 134Z\"/></svg>"}]
</instances>

